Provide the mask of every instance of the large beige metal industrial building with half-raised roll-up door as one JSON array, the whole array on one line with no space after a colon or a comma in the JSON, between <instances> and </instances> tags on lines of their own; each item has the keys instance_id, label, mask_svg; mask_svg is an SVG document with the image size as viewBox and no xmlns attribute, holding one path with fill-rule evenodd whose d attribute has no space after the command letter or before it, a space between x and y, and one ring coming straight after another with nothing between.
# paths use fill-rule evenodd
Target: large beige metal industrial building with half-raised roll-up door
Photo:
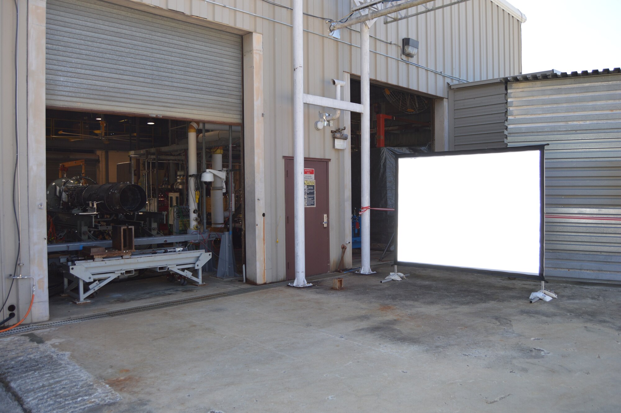
<instances>
[{"instance_id":1,"label":"large beige metal industrial building with half-raised roll-up door","mask_svg":"<svg viewBox=\"0 0 621 413\"><path fill-rule=\"evenodd\" d=\"M225 143L222 147L243 171L237 178L243 183L238 188L243 202L236 211L242 217L247 281L286 279L292 243L286 171L293 155L291 62L296 47L291 42L289 3L17 0L16 4L4 1L0 6L0 145L6 178L0 216L0 296L7 297L7 306L14 306L14 320L28 309L32 281L35 299L25 322L48 319L46 175L53 176L61 161L83 157L83 175L97 175L93 179L99 184L115 182L122 170L114 166L124 163L124 157L134 163L127 155L130 150L148 157L155 148L189 145L189 134L200 133L201 128L214 132L224 128L240 135L235 153L226 152ZM450 84L519 74L520 25L525 16L505 0L436 0L430 6L411 9L409 13L417 16L409 19L379 19L373 25L370 76L378 88L428 102L421 115L426 118L420 122L428 124L424 134L430 147L440 151L456 147L449 133ZM354 27L330 36L327 24L328 19L347 16L350 1L309 1L305 7L304 90L333 97L330 79L340 79L345 82L343 100L351 101L355 95L351 84L360 78L360 34ZM414 57L402 54L404 38L418 41ZM307 242L325 247L309 248L314 255L307 255L307 263L322 263L315 273L336 270L341 245L351 242L351 143L356 135L350 112L343 112L334 124L351 131L345 147L332 137L332 128L315 130L322 109L304 108L305 157L318 186L314 212L325 216L315 222L319 238ZM117 124L127 119L134 122L134 129L109 129L105 134L109 125L101 124L100 129L89 129L88 141L84 135L63 140L63 134L77 132L50 123L67 117L73 124L94 122L97 115L116 119ZM171 132L175 128L187 134ZM93 165L89 159L99 161ZM51 160L54 165L46 167ZM138 165L138 175L136 170L129 172L136 183L151 162L145 160ZM160 176L160 160L156 165ZM15 171L16 179L8 178ZM192 175L188 165L188 183ZM19 182L15 189L14 181ZM322 206L324 211L319 211ZM351 266L351 248L343 259L344 266ZM14 274L34 279L7 278ZM0 317L8 316L9 310L3 309Z\"/></svg>"}]
</instances>

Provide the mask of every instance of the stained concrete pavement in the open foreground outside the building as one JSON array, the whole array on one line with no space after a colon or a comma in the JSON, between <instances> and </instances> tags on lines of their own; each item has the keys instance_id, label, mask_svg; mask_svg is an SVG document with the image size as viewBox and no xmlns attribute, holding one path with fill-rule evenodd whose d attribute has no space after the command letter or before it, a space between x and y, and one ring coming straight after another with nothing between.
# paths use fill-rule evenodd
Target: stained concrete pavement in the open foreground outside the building
<instances>
[{"instance_id":1,"label":"stained concrete pavement in the open foreground outside the building","mask_svg":"<svg viewBox=\"0 0 621 413\"><path fill-rule=\"evenodd\" d=\"M389 268L34 335L122 396L90 412L620 411L620 286Z\"/></svg>"}]
</instances>

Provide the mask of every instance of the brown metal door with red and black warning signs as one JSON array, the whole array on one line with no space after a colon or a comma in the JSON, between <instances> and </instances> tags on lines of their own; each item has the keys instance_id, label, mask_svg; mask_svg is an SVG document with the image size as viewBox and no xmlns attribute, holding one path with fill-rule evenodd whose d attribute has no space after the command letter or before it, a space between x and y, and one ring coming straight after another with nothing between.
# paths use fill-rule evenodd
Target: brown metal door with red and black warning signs
<instances>
[{"instance_id":1,"label":"brown metal door with red and black warning signs","mask_svg":"<svg viewBox=\"0 0 621 413\"><path fill-rule=\"evenodd\" d=\"M330 217L328 216L328 161L304 160L306 275L330 271ZM296 278L293 221L293 159L284 160L284 231L287 279ZM312 179L311 179L312 178ZM325 219L324 219L325 217ZM324 224L327 222L327 224Z\"/></svg>"}]
</instances>

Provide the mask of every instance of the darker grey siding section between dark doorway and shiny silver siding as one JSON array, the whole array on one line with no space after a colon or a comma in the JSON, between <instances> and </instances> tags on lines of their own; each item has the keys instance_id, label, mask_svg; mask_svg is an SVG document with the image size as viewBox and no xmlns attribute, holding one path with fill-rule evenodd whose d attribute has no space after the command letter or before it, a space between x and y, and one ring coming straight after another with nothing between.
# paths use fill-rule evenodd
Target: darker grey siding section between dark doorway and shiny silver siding
<instances>
[{"instance_id":1,"label":"darker grey siding section between dark doorway and shiny silver siding","mask_svg":"<svg viewBox=\"0 0 621 413\"><path fill-rule=\"evenodd\" d=\"M449 107L449 139L454 150L507 146L507 92L504 82L452 90Z\"/></svg>"}]
</instances>

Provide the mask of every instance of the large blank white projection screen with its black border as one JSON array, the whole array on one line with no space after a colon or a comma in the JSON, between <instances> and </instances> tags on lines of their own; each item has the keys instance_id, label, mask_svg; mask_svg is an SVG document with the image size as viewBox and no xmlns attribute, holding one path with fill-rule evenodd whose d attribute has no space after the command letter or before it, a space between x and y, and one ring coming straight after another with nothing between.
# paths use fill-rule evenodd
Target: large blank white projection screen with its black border
<instances>
[{"instance_id":1,"label":"large blank white projection screen with its black border","mask_svg":"<svg viewBox=\"0 0 621 413\"><path fill-rule=\"evenodd\" d=\"M543 148L398 155L396 264L543 280Z\"/></svg>"}]
</instances>

